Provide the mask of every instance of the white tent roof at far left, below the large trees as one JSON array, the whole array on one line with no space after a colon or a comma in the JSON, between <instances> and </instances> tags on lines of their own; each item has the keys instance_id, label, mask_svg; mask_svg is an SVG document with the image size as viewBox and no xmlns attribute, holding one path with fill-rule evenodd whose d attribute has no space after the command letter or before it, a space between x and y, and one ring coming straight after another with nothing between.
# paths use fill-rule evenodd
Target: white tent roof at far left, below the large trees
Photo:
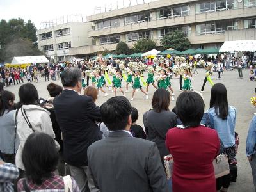
<instances>
[{"instance_id":1,"label":"white tent roof at far left, below the large trees","mask_svg":"<svg viewBox=\"0 0 256 192\"><path fill-rule=\"evenodd\" d=\"M13 57L11 64L27 64L27 63L49 63L49 60L44 55Z\"/></svg>"}]
</instances>

